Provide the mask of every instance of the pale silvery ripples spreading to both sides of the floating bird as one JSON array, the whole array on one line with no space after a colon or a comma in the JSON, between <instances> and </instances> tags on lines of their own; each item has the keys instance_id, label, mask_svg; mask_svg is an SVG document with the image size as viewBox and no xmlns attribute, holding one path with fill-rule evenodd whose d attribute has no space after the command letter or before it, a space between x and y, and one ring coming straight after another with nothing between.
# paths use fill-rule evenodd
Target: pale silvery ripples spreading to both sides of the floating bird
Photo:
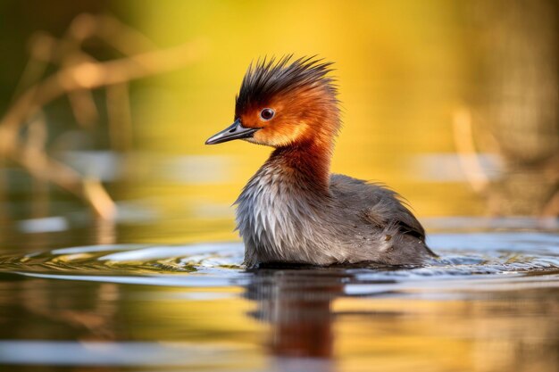
<instances>
[{"instance_id":1,"label":"pale silvery ripples spreading to both sides of the floating bird","mask_svg":"<svg viewBox=\"0 0 559 372\"><path fill-rule=\"evenodd\" d=\"M421 268L291 268L301 276L347 277L345 292L463 290L559 286L559 236L546 233L431 235L438 260ZM241 266L238 243L147 245L109 244L0 257L0 271L26 277L136 285L246 285L255 271ZM284 268L285 269L285 268ZM257 276L256 276L257 277ZM262 279L262 277L260 278ZM371 285L374 284L374 285Z\"/></svg>"}]
</instances>

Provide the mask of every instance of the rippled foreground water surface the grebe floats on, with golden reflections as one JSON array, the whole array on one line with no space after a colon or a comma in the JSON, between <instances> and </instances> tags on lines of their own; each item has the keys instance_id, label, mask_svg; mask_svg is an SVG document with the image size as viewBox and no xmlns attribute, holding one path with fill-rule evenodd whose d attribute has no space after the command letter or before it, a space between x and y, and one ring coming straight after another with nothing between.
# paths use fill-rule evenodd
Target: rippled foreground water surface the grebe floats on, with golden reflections
<instances>
[{"instance_id":1,"label":"rippled foreground water surface the grebe floats on, with golden reflections","mask_svg":"<svg viewBox=\"0 0 559 372\"><path fill-rule=\"evenodd\" d=\"M422 268L240 266L242 244L0 257L6 370L555 371L559 236L439 233ZM99 370L99 369L95 369Z\"/></svg>"}]
</instances>

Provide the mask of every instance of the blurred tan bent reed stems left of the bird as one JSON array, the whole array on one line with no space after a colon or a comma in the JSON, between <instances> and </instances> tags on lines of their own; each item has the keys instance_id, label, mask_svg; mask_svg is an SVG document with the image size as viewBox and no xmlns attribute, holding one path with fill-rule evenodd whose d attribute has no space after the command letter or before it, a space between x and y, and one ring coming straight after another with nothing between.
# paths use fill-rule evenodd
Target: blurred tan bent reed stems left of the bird
<instances>
[{"instance_id":1,"label":"blurred tan bent reed stems left of the bird","mask_svg":"<svg viewBox=\"0 0 559 372\"><path fill-rule=\"evenodd\" d=\"M97 61L83 50L84 42L90 38L102 40L124 56ZM43 183L52 183L88 203L99 218L113 219L116 207L103 184L80 175L49 155L44 108L66 95L79 126L91 128L100 117L92 91L105 88L111 145L115 151L129 151L132 146L129 81L180 69L196 61L202 49L203 45L196 41L157 49L138 30L104 15L79 15L61 39L38 32L31 37L29 62L13 102L0 120L0 161L12 161L26 169L36 180L37 191L44 191ZM56 70L45 76L49 64ZM24 127L28 130L22 132Z\"/></svg>"}]
</instances>

